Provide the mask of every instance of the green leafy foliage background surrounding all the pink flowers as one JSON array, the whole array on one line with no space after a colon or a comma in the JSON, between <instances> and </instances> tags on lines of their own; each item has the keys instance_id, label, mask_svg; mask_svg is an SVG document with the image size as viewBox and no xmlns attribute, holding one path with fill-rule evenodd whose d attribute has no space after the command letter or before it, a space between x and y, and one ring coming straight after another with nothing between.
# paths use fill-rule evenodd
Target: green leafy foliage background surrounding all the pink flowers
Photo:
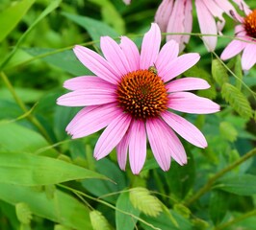
<instances>
[{"instance_id":1,"label":"green leafy foliage background surrounding all the pink flowers","mask_svg":"<svg viewBox=\"0 0 256 230\"><path fill-rule=\"evenodd\" d=\"M192 35L185 50L201 59L184 76L207 80L212 87L198 94L221 105L217 114L185 115L209 145L183 142L188 165L172 162L164 173L148 150L140 175L121 172L115 152L92 157L100 133L71 140L64 131L79 108L56 104L62 85L90 74L72 47L98 51L101 35L120 34L140 45L160 2L1 0L1 230L255 229L256 68L243 73L240 56L219 60L230 38L219 37L210 54ZM223 34L233 27L226 17Z\"/></svg>"}]
</instances>

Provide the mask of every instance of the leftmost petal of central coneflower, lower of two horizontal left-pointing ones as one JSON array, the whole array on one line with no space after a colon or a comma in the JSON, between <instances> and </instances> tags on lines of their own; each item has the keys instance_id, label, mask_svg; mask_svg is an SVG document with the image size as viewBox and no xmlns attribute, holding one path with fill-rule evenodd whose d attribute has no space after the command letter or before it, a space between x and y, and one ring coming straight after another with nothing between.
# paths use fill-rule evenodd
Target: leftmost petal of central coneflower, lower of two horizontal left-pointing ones
<instances>
[{"instance_id":1,"label":"leftmost petal of central coneflower, lower of two horizontal left-pointing ones","mask_svg":"<svg viewBox=\"0 0 256 230\"><path fill-rule=\"evenodd\" d=\"M64 94L57 99L57 104L65 106L88 106L95 104L108 104L116 101L113 88L79 89Z\"/></svg>"}]
</instances>

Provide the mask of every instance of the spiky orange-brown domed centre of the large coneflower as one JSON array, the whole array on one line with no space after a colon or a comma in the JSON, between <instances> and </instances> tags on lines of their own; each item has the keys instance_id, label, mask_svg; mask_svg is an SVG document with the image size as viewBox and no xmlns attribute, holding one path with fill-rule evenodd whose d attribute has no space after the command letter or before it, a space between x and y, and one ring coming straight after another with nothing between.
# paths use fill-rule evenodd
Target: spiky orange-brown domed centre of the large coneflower
<instances>
[{"instance_id":1,"label":"spiky orange-brown domed centre of the large coneflower","mask_svg":"<svg viewBox=\"0 0 256 230\"><path fill-rule=\"evenodd\" d=\"M150 70L137 70L123 76L117 88L117 100L124 112L135 119L159 116L167 109L164 81Z\"/></svg>"}]
</instances>

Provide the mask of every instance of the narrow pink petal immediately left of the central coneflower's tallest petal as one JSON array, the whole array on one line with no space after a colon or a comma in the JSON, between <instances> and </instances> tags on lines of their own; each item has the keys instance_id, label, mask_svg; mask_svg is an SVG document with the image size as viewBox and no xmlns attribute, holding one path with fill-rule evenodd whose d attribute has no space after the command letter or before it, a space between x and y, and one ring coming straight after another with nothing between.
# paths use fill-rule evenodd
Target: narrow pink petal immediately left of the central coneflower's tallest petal
<instances>
[{"instance_id":1,"label":"narrow pink petal immediately left of the central coneflower's tallest petal","mask_svg":"<svg viewBox=\"0 0 256 230\"><path fill-rule=\"evenodd\" d=\"M127 36L121 36L120 47L124 56L127 58L131 71L139 70L140 53L136 44Z\"/></svg>"}]
</instances>

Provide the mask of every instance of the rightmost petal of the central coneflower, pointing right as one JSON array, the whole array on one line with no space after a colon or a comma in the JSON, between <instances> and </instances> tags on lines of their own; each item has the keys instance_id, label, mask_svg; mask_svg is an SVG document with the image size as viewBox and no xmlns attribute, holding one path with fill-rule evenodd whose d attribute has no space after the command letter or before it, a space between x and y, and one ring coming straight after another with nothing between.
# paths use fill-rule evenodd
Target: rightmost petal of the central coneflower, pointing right
<instances>
[{"instance_id":1,"label":"rightmost petal of the central coneflower, pointing right","mask_svg":"<svg viewBox=\"0 0 256 230\"><path fill-rule=\"evenodd\" d=\"M219 111L218 104L189 92L170 94L169 104L167 106L177 111L195 114L207 114Z\"/></svg>"}]
</instances>

